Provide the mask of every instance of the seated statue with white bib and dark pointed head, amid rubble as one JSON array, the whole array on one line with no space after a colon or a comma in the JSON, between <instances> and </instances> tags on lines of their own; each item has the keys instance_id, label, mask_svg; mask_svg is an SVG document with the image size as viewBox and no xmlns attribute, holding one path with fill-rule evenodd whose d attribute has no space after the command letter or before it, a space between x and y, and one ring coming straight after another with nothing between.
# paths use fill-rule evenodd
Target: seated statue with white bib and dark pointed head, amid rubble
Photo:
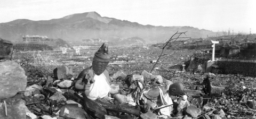
<instances>
[{"instance_id":1,"label":"seated statue with white bib and dark pointed head, amid rubble","mask_svg":"<svg viewBox=\"0 0 256 119\"><path fill-rule=\"evenodd\" d=\"M78 75L75 88L84 90L86 97L91 100L97 98L110 100L108 97L110 80L106 70L109 60L108 45L104 43L94 54L92 66L87 67Z\"/></svg>"}]
</instances>

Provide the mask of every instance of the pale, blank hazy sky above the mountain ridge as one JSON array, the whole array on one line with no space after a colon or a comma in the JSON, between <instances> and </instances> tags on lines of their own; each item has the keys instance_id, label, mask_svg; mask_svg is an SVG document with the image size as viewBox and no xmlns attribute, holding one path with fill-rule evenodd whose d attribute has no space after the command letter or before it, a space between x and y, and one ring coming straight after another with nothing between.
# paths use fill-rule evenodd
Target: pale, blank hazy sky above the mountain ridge
<instances>
[{"instance_id":1,"label":"pale, blank hazy sky above the mountain ridge","mask_svg":"<svg viewBox=\"0 0 256 119\"><path fill-rule=\"evenodd\" d=\"M146 25L191 26L212 31L256 33L255 0L0 0L0 23L50 20L95 11Z\"/></svg>"}]
</instances>

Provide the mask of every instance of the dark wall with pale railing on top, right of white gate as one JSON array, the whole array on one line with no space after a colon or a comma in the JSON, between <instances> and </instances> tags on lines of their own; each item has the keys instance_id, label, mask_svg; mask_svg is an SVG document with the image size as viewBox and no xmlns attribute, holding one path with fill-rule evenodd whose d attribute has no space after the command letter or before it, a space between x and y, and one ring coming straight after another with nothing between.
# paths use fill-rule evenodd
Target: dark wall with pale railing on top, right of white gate
<instances>
[{"instance_id":1,"label":"dark wall with pale railing on top, right of white gate","mask_svg":"<svg viewBox=\"0 0 256 119\"><path fill-rule=\"evenodd\" d=\"M221 59L217 65L224 69L224 74L243 74L256 76L256 60Z\"/></svg>"}]
</instances>

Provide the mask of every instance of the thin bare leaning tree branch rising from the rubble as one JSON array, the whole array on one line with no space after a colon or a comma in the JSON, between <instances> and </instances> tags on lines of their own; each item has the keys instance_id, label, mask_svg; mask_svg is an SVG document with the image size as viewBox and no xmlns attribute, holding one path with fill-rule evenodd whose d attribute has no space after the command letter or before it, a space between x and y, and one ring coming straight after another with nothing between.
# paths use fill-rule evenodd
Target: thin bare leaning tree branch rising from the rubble
<instances>
[{"instance_id":1,"label":"thin bare leaning tree branch rising from the rubble","mask_svg":"<svg viewBox=\"0 0 256 119\"><path fill-rule=\"evenodd\" d=\"M187 31L186 31L187 32ZM164 45L164 47L162 48L162 52L161 52L161 54L159 55L159 57L158 57L158 59L157 59L157 61L156 61L156 63L154 64L154 66L152 67L152 69L151 69L151 71L150 71L150 73L155 69L155 66L156 66L156 64L158 63L158 61L159 61L159 59L162 57L162 56L164 56L164 55L162 55L163 54L163 52L164 52L164 48L170 43L170 41L176 41L177 39L180 39L180 38L189 38L190 39L190 37L180 37L180 35L185 35L185 36L187 36L186 35L186 32L176 32L176 33L174 33L173 35L172 35L172 37L174 37L175 35L178 35L178 37L176 37L176 38L170 38L168 41L167 41L167 43ZM179 45L179 44L178 44ZM178 46L177 45L177 46ZM176 47L176 46L175 46Z\"/></svg>"}]
</instances>

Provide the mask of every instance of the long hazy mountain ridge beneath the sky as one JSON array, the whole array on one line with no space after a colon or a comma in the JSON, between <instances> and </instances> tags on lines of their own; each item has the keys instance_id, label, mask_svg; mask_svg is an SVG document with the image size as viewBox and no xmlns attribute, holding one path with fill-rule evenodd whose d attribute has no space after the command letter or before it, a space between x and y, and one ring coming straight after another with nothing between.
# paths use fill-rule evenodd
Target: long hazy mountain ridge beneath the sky
<instances>
[{"instance_id":1,"label":"long hazy mountain ridge beneath the sky","mask_svg":"<svg viewBox=\"0 0 256 119\"><path fill-rule=\"evenodd\" d=\"M60 19L32 21L18 19L0 23L0 38L22 41L22 36L39 35L66 41L101 38L113 41L115 38L139 37L145 41L163 41L175 32L185 32L187 37L205 38L216 33L193 27L163 27L142 25L137 22L102 17L97 12L71 14Z\"/></svg>"}]
</instances>

